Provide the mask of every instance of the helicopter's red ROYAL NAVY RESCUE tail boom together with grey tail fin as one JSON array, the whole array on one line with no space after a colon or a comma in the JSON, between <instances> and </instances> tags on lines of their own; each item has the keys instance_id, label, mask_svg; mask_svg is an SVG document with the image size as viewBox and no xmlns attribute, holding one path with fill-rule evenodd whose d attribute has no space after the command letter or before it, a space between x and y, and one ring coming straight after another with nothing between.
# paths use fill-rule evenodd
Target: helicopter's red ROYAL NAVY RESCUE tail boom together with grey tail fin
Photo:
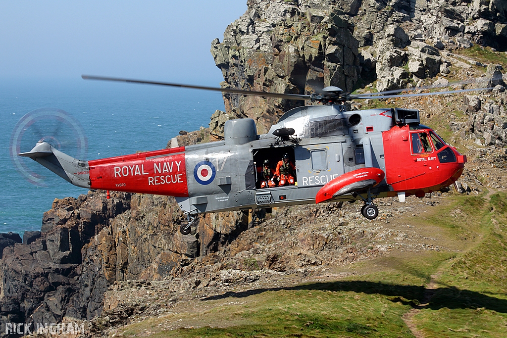
<instances>
[{"instance_id":1,"label":"helicopter's red ROYAL NAVY RESCUE tail boom together with grey tail fin","mask_svg":"<svg viewBox=\"0 0 507 338\"><path fill-rule=\"evenodd\" d=\"M29 157L66 181L88 189L188 197L185 147L81 161L47 142L38 142Z\"/></svg>"}]
</instances>

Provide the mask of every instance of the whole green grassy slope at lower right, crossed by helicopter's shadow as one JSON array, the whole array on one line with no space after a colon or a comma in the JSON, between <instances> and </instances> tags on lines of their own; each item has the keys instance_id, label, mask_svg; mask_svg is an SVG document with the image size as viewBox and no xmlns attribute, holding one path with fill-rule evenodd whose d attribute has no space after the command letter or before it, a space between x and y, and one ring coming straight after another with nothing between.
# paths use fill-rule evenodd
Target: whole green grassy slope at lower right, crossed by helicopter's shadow
<instances>
[{"instance_id":1,"label":"whole green grassy slope at lower right, crossed by helicopter's shadow","mask_svg":"<svg viewBox=\"0 0 507 338\"><path fill-rule=\"evenodd\" d=\"M365 273L360 278L228 293L203 301L200 311L129 325L123 335L413 337L402 317L421 308L412 321L427 337L505 337L506 197L454 196L418 218L437 227L458 253L393 253L353 265ZM438 288L429 304L420 307L430 281ZM164 330L177 321L201 327Z\"/></svg>"}]
</instances>

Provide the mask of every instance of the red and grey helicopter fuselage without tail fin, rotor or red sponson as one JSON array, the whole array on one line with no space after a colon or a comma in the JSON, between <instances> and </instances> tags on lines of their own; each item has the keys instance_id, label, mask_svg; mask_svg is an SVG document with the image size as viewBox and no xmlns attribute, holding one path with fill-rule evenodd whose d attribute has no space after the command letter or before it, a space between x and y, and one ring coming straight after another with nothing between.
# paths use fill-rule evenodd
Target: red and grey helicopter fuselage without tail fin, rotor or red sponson
<instances>
[{"instance_id":1,"label":"red and grey helicopter fuselage without tail fin, rotor or red sponson","mask_svg":"<svg viewBox=\"0 0 507 338\"><path fill-rule=\"evenodd\" d=\"M174 196L185 213L197 214L315 203L325 184L367 167L385 172L371 190L374 197L423 196L452 184L464 158L419 125L417 111L403 111L417 116L396 124L390 108L299 107L264 135L257 135L250 119L232 120L224 141L89 161L90 187ZM294 135L274 136L281 128L294 129ZM414 143L421 133L431 139L426 149ZM270 160L274 170L283 154L295 164L295 185L261 189L263 161ZM330 200L340 199L360 197L352 193Z\"/></svg>"}]
</instances>

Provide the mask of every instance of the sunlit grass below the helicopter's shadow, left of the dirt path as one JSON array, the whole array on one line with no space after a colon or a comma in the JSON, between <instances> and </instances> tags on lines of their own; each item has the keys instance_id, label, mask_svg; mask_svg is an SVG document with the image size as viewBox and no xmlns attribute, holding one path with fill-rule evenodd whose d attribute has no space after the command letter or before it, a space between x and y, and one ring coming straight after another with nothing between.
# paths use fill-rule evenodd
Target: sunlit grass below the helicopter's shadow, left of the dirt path
<instances>
[{"instance_id":1,"label":"sunlit grass below the helicopter's shadow, left of the dirt path","mask_svg":"<svg viewBox=\"0 0 507 338\"><path fill-rule=\"evenodd\" d=\"M294 289L266 291L249 296L248 306L226 306L212 311L215 325L224 320L238 322L225 328L200 327L161 331L155 336L177 337L381 337L397 332L412 337L401 319L408 306L391 301L377 292L357 292L357 287L371 286L346 282L309 284ZM374 283L375 287L382 287ZM322 289L319 289L322 288ZM343 291L342 289L352 289ZM387 286L387 289L392 289ZM393 290L394 292L394 290ZM229 300L229 299L228 299ZM128 330L126 336L136 335ZM387 335L391 336L391 335Z\"/></svg>"}]
</instances>

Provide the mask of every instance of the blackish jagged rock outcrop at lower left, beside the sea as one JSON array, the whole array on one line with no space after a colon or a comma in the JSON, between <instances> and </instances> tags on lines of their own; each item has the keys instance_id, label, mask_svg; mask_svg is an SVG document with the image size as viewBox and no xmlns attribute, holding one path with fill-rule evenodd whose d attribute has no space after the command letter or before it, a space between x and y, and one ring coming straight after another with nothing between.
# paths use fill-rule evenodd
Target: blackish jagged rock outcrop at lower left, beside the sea
<instances>
[{"instance_id":1,"label":"blackish jagged rock outcrop at lower left, beside the sea","mask_svg":"<svg viewBox=\"0 0 507 338\"><path fill-rule=\"evenodd\" d=\"M64 316L100 314L106 279L88 255L90 241L111 218L130 208L130 195L98 194L56 199L41 232L27 232L3 250L0 260L0 318L3 323L55 323ZM96 258L96 257L95 257Z\"/></svg>"}]
</instances>

